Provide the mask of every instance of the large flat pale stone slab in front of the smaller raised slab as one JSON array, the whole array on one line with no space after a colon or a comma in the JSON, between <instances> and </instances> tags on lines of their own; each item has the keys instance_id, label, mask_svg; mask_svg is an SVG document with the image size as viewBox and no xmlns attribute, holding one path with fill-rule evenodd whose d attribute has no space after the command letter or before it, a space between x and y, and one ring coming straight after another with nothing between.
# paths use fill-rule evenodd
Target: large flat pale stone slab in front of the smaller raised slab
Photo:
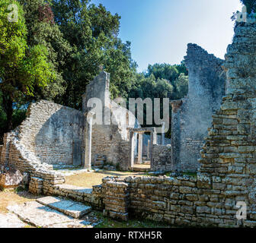
<instances>
[{"instance_id":1,"label":"large flat pale stone slab in front of the smaller raised slab","mask_svg":"<svg viewBox=\"0 0 256 243\"><path fill-rule=\"evenodd\" d=\"M21 220L40 228L85 228L89 222L73 219L56 210L30 201L21 205L9 206L7 209L19 216Z\"/></svg>"}]
</instances>

